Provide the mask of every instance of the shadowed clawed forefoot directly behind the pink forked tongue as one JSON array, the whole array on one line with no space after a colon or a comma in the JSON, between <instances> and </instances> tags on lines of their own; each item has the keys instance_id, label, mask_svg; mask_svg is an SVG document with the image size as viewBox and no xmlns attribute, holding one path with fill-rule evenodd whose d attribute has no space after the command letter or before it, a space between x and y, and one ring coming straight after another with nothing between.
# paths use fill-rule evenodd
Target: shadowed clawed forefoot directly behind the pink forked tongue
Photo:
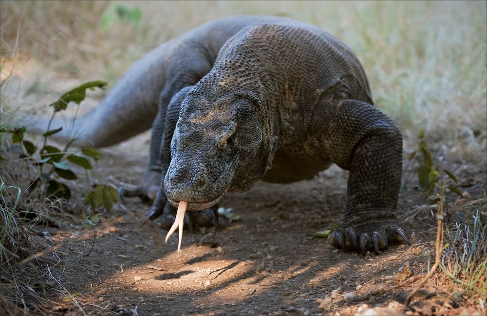
<instances>
[{"instance_id":1,"label":"shadowed clawed forefoot directly behind the pink forked tongue","mask_svg":"<svg viewBox=\"0 0 487 316\"><path fill-rule=\"evenodd\" d=\"M166 203L160 219L161 228L169 230L176 219L176 213L177 209ZM192 231L195 225L200 227L218 227L218 207L215 205L200 211L187 211L185 214L185 227Z\"/></svg>"}]
</instances>

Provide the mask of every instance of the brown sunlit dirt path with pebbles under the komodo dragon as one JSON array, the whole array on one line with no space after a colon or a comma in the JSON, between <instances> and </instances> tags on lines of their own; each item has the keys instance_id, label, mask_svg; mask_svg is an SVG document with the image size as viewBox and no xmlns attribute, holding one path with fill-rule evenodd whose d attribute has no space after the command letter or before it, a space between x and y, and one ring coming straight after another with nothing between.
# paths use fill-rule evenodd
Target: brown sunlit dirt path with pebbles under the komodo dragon
<instances>
[{"instance_id":1,"label":"brown sunlit dirt path with pebbles under the komodo dragon","mask_svg":"<svg viewBox=\"0 0 487 316\"><path fill-rule=\"evenodd\" d=\"M138 183L148 143L145 133L103 150L98 174L115 185ZM179 254L177 233L165 244L167 231L157 220L141 225L150 204L134 198L102 214L87 257L93 230L73 236L45 228L53 244L64 242L45 256L60 275L53 273L53 284L72 295L70 300L48 289L55 304L45 307L63 315L350 315L367 308L378 313L380 307L388 309L375 315L401 313L408 291L425 274L435 237L431 209L422 206L413 168L405 161L397 215L413 246L393 244L378 256L363 256L314 237L340 226L347 172L336 166L312 180L258 182L247 193L225 195L220 206L242 219L220 217L216 230L186 228ZM466 189L473 198L484 192L485 171L470 172L463 178L470 179ZM81 198L71 202L74 212L86 210ZM396 280L405 263L412 271ZM408 314L475 313L455 306L441 282L427 283Z\"/></svg>"}]
</instances>

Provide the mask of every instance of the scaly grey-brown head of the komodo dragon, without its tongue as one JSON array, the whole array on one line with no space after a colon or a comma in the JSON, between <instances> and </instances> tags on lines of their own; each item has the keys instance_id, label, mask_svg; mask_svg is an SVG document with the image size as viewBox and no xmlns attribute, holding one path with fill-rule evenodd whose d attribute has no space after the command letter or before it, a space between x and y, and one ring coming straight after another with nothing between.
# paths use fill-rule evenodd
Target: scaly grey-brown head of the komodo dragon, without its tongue
<instances>
[{"instance_id":1,"label":"scaly grey-brown head of the komodo dragon, without its tongue","mask_svg":"<svg viewBox=\"0 0 487 316\"><path fill-rule=\"evenodd\" d=\"M251 93L222 80L203 79L181 105L164 179L169 202L201 210L226 192L244 192L270 165L265 111Z\"/></svg>"}]
</instances>

